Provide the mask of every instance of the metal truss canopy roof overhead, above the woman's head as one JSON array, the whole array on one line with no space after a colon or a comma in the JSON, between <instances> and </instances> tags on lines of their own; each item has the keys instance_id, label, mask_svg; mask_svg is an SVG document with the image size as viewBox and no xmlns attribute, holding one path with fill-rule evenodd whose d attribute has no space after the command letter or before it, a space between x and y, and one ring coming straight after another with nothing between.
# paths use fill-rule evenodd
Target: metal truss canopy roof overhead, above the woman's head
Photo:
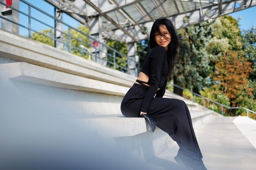
<instances>
[{"instance_id":1,"label":"metal truss canopy roof overhead, above the woman's head","mask_svg":"<svg viewBox=\"0 0 256 170\"><path fill-rule=\"evenodd\" d=\"M148 38L153 22L169 18L176 29L253 7L256 0L45 0L81 23L101 18L103 37L123 42Z\"/></svg>"}]
</instances>

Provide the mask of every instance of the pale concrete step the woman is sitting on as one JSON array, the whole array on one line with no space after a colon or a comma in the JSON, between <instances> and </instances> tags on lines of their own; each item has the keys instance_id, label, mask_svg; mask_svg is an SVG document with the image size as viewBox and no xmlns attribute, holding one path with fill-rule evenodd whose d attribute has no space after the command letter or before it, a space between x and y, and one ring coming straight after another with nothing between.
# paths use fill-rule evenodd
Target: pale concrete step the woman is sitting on
<instances>
[{"instance_id":1,"label":"pale concrete step the woman is sitting on","mask_svg":"<svg viewBox=\"0 0 256 170\"><path fill-rule=\"evenodd\" d=\"M191 118L194 127L198 127L207 121L212 110L192 111ZM112 137L135 136L141 133L150 132L148 122L140 117L124 117L123 115L90 115L79 118L91 130L99 134L108 134ZM95 126L97 125L97 126Z\"/></svg>"}]
</instances>

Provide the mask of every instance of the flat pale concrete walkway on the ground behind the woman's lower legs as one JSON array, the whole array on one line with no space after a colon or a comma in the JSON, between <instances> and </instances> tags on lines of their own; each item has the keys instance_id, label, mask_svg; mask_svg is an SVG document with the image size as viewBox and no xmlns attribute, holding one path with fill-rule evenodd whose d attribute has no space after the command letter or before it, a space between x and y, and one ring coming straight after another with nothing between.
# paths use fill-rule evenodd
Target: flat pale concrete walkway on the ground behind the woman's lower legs
<instances>
[{"instance_id":1,"label":"flat pale concrete walkway on the ground behind the woman's lower legs","mask_svg":"<svg viewBox=\"0 0 256 170\"><path fill-rule=\"evenodd\" d=\"M255 170L256 149L229 117L211 117L195 128L195 135L208 170ZM176 142L153 158L175 162Z\"/></svg>"}]
</instances>

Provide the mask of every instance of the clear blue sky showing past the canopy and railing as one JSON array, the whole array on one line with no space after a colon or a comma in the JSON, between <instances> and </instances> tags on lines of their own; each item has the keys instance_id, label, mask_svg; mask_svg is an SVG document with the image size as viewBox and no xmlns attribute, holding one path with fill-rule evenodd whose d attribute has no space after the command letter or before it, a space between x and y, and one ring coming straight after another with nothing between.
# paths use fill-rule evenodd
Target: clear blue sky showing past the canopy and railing
<instances>
[{"instance_id":1,"label":"clear blue sky showing past the canopy and railing","mask_svg":"<svg viewBox=\"0 0 256 170\"><path fill-rule=\"evenodd\" d=\"M52 5L48 4L44 0L26 0L26 1L32 5L35 5L39 9L42 9L43 11L49 13L50 15L54 15L54 7L52 7ZM28 14L28 6L23 2L20 2L20 11ZM44 18L43 21L45 23L54 27L54 20L46 16L45 14L40 13L37 10L31 8L31 15L39 20L42 20L42 18ZM255 19L256 6L248 9L244 9L242 11L238 11L235 13L231 13L229 15L233 16L234 18L241 17L241 19L239 20L239 24L240 24L239 27L241 31L243 31L243 29L245 30L250 29L252 26L256 27L256 19ZM63 21L73 27L79 26L78 21L74 20L73 18L66 15L65 13L63 13ZM23 14L20 14L20 24L28 26L28 17ZM50 27L45 26L35 20L31 20L31 28L36 31L40 31L41 29L49 29ZM63 26L63 29L67 30L67 26ZM23 36L28 35L28 30L20 26L20 35L23 35Z\"/></svg>"}]
</instances>

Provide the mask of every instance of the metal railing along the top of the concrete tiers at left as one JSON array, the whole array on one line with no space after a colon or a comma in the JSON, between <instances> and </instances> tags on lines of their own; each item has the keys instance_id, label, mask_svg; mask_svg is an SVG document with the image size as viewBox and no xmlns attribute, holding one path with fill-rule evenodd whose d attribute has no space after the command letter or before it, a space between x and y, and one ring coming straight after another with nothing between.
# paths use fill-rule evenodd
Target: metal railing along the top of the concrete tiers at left
<instances>
[{"instance_id":1,"label":"metal railing along the top of the concrete tiers at left","mask_svg":"<svg viewBox=\"0 0 256 170\"><path fill-rule=\"evenodd\" d=\"M99 61L101 60L104 66L108 66L108 67L111 67L111 66L112 66L114 69L117 69L117 70L122 71L122 72L124 72L124 73L130 74L130 69L129 69L129 67L128 67L128 60L129 60L130 62L135 62L135 60L132 60L132 59L130 59L130 58L128 59L128 57L127 57L126 55L120 53L119 51L113 49L113 48L110 47L110 46L107 46L106 44L103 44L102 42L98 42L98 41L95 40L94 38L90 37L90 35L87 35L87 34L83 33L82 31L80 31L80 30L78 30L78 29L76 29L76 28L70 26L69 24L63 22L62 20L59 20L58 18L56 18L56 17L54 17L54 16L52 16L52 15L46 13L45 11L43 11L43 10L41 10L41 9L39 9L39 8L37 8L37 7L35 7L34 5L30 4L29 2L26 2L25 0L20 0L20 1L28 5L28 14L27 14L27 13L24 13L24 12L22 12L22 11L20 11L19 9L13 8L13 7L11 7L11 6L9 6L9 5L7 5L7 4L1 2L1 1L0 1L0 4L4 5L4 6L6 6L6 7L9 7L10 9L12 9L12 10L14 10L14 11L17 11L18 13L21 13L22 15L27 16L27 17L28 17L28 26L25 26L25 25L23 25L23 24L20 24L20 23L18 23L18 22L13 21L13 20L9 20L8 18L5 18L5 17L3 17L3 16L0 16L0 18L2 18L2 19L4 19L4 20L7 20L7 21L9 21L9 22L11 22L11 23L13 23L13 24L16 24L16 25L18 25L18 26L21 26L21 27L27 29L28 32L29 32L29 33L28 33L28 38L31 38L31 31L33 31L34 33L38 33L38 34L40 34L40 35L43 35L43 36L45 36L46 38L49 38L49 39L53 40L54 42L62 43L63 46L67 46L66 51L68 51L68 52L70 52L70 53L71 53L72 49L78 50L78 51L81 52L81 55L82 55L82 53L85 54L85 55L88 55L88 56L89 56L89 60L91 60L92 57L94 57L94 62L97 62L97 60L99 60ZM65 31L63 31L63 30L56 29L54 26L50 26L49 24L47 24L47 23L45 23L45 22L43 22L43 21L41 21L41 20L38 20L38 19L34 18L33 16L31 16L31 8L33 8L33 9L35 9L35 10L37 10L37 11L39 11L39 12L45 14L45 15L47 15L48 17L54 19L54 22L57 21L57 22L60 22L61 24L65 25L65 26L67 26L68 31L65 32ZM56 8L56 7L54 7L54 8ZM66 42L65 42L65 41L61 41L61 40L58 40L58 39L56 38L56 35L55 35L54 37L50 37L49 35L46 35L46 34L44 34L44 33L41 33L41 32L38 32L38 31L32 29L32 28L31 28L31 19L33 19L33 20L35 20L35 21L37 21L37 22L39 22L39 23L41 23L41 24L43 24L43 25L45 25L45 26L47 26L47 27L49 27L49 28L51 28L51 29L53 29L54 31L60 32L60 33L61 33L62 35L64 35L64 36L66 35L66 36L68 37L67 40L66 40ZM95 46L92 46L92 44L88 44L87 42L84 42L84 41L82 41L82 40L79 40L78 38L75 38L74 36L71 35L71 30L74 30L74 31L76 31L77 33L80 33L81 35L87 37L88 40L90 40L91 42L93 42L93 41L94 41L95 43L98 42L99 44L101 44L102 47L105 46L106 48L110 49L111 53L107 53L107 52L103 51L102 49L100 49L99 47L97 48L96 45L95 45ZM64 36L63 36L63 37L64 37ZM76 46L73 46L73 45L72 45L72 43L71 43L71 42L72 42L72 39L80 43L80 44L79 44L79 47L76 47ZM55 44L55 47L56 47L56 43L54 43L54 44ZM92 49L94 49L94 53L92 52ZM63 48L63 50L65 50L65 48ZM100 56L98 56L99 54L97 54L97 53L106 54L106 57L101 58ZM126 58L126 61L125 61L125 60L121 60L121 59L118 58L117 56L119 56L119 57L125 57L125 58ZM119 65L118 62L119 62L119 63L123 63L124 66ZM135 63L137 63L137 62L135 62Z\"/></svg>"}]
</instances>

